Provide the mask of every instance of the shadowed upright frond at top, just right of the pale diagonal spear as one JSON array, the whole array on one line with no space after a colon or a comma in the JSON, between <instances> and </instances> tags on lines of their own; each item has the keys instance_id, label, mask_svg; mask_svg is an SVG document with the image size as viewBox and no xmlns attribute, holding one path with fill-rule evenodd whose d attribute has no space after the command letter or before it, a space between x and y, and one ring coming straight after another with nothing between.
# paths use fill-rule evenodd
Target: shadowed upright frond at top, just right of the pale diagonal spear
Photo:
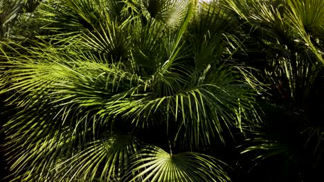
<instances>
[{"instance_id":1,"label":"shadowed upright frond at top, just right of the pale diagonal spear","mask_svg":"<svg viewBox=\"0 0 324 182\"><path fill-rule=\"evenodd\" d=\"M224 52L224 33L231 26L231 21L226 18L227 12L218 3L210 3L199 8L190 21L186 40L193 45L197 72L213 61L220 61L220 55Z\"/></svg>"}]
</instances>

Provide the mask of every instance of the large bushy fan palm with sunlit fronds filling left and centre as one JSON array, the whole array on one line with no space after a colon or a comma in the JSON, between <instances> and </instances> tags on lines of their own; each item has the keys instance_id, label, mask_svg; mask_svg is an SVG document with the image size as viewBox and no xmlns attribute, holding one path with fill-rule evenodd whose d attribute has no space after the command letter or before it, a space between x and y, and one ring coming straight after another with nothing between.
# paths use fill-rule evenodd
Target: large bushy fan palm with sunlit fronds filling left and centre
<instances>
[{"instance_id":1,"label":"large bushy fan palm with sunlit fronds filling left and centre","mask_svg":"<svg viewBox=\"0 0 324 182\"><path fill-rule=\"evenodd\" d=\"M42 4L46 39L3 43L12 181L230 181L204 153L258 121L257 90L223 54L231 12L212 4Z\"/></svg>"}]
</instances>

